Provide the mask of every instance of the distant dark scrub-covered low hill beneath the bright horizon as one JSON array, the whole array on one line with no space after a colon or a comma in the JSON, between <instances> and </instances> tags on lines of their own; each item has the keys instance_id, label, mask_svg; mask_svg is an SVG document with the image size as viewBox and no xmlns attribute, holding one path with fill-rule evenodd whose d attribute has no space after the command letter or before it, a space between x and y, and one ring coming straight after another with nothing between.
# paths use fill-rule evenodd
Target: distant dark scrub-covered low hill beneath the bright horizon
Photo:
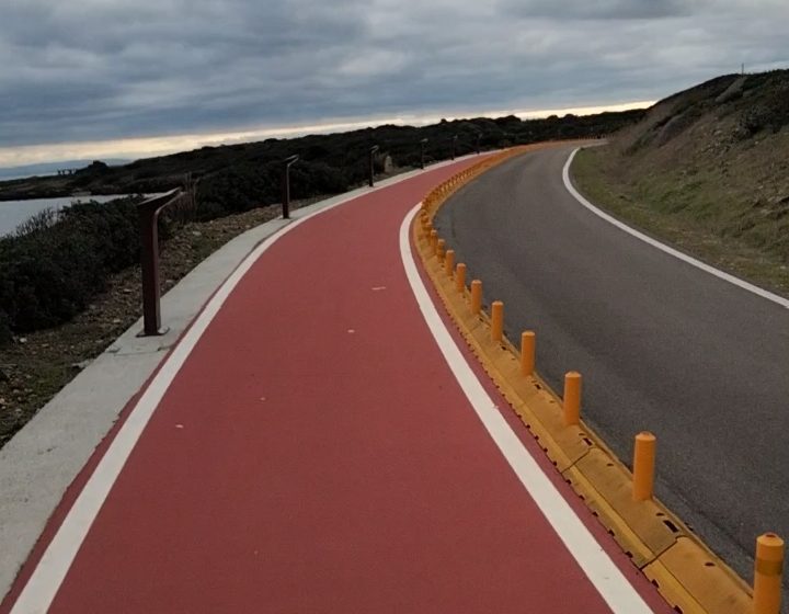
<instances>
[{"instance_id":1,"label":"distant dark scrub-covered low hill beneath the bright horizon","mask_svg":"<svg viewBox=\"0 0 789 614\"><path fill-rule=\"evenodd\" d=\"M310 135L293 139L267 139L220 147L203 147L172 156L148 158L110 167L87 166L72 175L28 178L0 182L0 201L92 194L134 194L170 190L182 184L185 173L203 178L198 201L206 217L221 209L247 211L279 200L282 160L298 154L291 169L296 198L344 192L365 181L368 151L380 147L377 170L389 157L397 168L420 163L420 140L426 138L427 162L451 155L457 135L458 155L558 138L596 137L610 134L638 121L643 111L603 113L588 116L551 116L522 121L515 116L476 118L412 126L379 126L341 134Z\"/></svg>"}]
</instances>

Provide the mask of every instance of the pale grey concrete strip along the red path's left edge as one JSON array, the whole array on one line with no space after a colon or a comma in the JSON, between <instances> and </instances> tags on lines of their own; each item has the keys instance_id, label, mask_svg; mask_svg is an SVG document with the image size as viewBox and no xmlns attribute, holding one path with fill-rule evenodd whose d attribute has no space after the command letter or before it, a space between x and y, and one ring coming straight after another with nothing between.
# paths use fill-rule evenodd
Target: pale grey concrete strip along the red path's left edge
<instances>
[{"instance_id":1,"label":"pale grey concrete strip along the red path's left edge","mask_svg":"<svg viewBox=\"0 0 789 614\"><path fill-rule=\"evenodd\" d=\"M465 156L456 161L473 158ZM454 163L447 160L291 212L228 241L162 297L161 337L138 319L0 450L0 595L10 591L66 490L216 289L265 239L295 220Z\"/></svg>"}]
</instances>

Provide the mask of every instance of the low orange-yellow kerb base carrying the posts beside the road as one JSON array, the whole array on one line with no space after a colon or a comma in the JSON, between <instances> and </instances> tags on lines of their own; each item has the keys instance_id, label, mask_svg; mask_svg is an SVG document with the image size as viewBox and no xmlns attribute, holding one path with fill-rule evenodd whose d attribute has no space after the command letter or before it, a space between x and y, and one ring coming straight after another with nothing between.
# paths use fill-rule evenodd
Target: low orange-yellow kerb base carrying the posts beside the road
<instances>
[{"instance_id":1,"label":"low orange-yellow kerb base carrying the posts beside the road","mask_svg":"<svg viewBox=\"0 0 789 614\"><path fill-rule=\"evenodd\" d=\"M455 191L478 174L460 173L447 182L448 189L434 190L423 204L428 219L434 218ZM456 292L454 281L446 275L443 262L416 223L412 237L442 303L473 354L515 413L538 437L540 447L564 480L666 601L686 614L750 611L750 587L659 500L644 502L640 508L630 502L631 474L627 467L583 420L579 428L563 427L559 396L539 376L519 374L519 352L506 338L499 344L490 341L489 317L484 310L479 317L471 314L468 291L462 295ZM541 406L537 411L530 407L535 402ZM576 437L569 433L572 429L578 431ZM579 446L579 437L586 441L586 447ZM666 521L674 525L673 538L659 535L655 530Z\"/></svg>"}]
</instances>

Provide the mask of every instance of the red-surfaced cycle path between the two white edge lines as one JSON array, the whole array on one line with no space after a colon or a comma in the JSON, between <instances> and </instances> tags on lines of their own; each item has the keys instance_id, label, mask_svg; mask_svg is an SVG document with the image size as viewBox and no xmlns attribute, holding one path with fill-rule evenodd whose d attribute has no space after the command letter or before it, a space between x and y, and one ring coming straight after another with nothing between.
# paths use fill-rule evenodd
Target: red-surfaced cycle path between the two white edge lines
<instances>
[{"instance_id":1,"label":"red-surfaced cycle path between the two white edge lines","mask_svg":"<svg viewBox=\"0 0 789 614\"><path fill-rule=\"evenodd\" d=\"M259 259L161 400L50 612L610 611L472 411L403 271L405 214L469 163L325 212Z\"/></svg>"}]
</instances>

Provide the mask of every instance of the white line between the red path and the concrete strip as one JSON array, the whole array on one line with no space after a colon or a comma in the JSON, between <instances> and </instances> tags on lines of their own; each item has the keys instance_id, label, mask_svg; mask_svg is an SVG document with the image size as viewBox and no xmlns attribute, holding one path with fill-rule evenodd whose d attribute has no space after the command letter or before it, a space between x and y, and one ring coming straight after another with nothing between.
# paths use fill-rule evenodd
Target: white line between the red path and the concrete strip
<instances>
[{"instance_id":1,"label":"white line between the red path and the concrete strip","mask_svg":"<svg viewBox=\"0 0 789 614\"><path fill-rule=\"evenodd\" d=\"M459 158L458 161L459 160L461 159ZM454 162L441 162L431 167L430 170L435 170L450 163ZM391 183L397 183L401 179L408 178L398 178L396 181L376 186L367 193L369 194L374 191L388 187ZM192 328L168 356L167 362L162 365L159 373L137 401L137 405L130 411L128 418L115 435L115 439L110 444L110 447L104 453L104 456L99 462L95 470L69 510L68 515L47 546L47 549L44 552L33 575L30 580L27 580L22 593L14 603L11 614L38 614L49 609L66 573L77 556L77 552L88 535L88 531L99 514L110 490L142 434L146 424L148 424L150 417L159 406L164 393L167 393L175 375L178 375L190 353L197 344L197 341L225 304L227 297L255 261L271 248L274 242L308 219L358 197L361 197L359 194L348 196L325 208L291 221L288 226L261 242L250 252L241 264L239 264L232 274L230 274L207 303L205 309L199 314Z\"/></svg>"}]
</instances>

